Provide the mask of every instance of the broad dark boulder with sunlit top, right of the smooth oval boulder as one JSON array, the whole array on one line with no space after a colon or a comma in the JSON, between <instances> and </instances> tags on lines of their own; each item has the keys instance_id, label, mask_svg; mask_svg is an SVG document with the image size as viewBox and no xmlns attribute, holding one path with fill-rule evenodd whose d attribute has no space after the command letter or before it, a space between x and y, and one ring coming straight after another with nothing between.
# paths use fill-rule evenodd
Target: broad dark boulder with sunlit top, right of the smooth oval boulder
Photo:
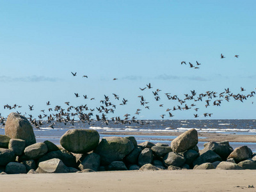
<instances>
[{"instance_id":1,"label":"broad dark boulder with sunlit top, right of the smooth oval boulder","mask_svg":"<svg viewBox=\"0 0 256 192\"><path fill-rule=\"evenodd\" d=\"M102 165L110 164L113 161L122 160L134 149L132 142L122 137L102 138L98 147L93 151L100 155Z\"/></svg>"}]
</instances>

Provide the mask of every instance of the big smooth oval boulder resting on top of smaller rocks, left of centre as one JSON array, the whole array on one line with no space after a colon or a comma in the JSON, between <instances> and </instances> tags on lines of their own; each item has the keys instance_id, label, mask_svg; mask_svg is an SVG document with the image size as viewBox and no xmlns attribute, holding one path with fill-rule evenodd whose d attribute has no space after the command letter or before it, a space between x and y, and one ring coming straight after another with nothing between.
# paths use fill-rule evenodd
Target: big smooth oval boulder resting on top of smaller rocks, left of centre
<instances>
[{"instance_id":1,"label":"big smooth oval boulder resting on top of smaller rocks, left of centre","mask_svg":"<svg viewBox=\"0 0 256 192\"><path fill-rule=\"evenodd\" d=\"M70 129L60 138L60 145L76 154L86 154L99 144L99 132L93 129Z\"/></svg>"}]
</instances>

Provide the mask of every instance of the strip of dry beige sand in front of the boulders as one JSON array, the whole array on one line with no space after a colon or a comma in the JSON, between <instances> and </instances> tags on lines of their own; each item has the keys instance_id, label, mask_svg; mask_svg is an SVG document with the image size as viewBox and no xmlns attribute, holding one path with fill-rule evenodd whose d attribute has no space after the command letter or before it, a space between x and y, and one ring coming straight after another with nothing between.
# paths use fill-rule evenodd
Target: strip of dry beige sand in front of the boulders
<instances>
[{"instance_id":1,"label":"strip of dry beige sand in front of the boulders","mask_svg":"<svg viewBox=\"0 0 256 192\"><path fill-rule=\"evenodd\" d=\"M256 191L255 170L0 175L1 191Z\"/></svg>"}]
</instances>

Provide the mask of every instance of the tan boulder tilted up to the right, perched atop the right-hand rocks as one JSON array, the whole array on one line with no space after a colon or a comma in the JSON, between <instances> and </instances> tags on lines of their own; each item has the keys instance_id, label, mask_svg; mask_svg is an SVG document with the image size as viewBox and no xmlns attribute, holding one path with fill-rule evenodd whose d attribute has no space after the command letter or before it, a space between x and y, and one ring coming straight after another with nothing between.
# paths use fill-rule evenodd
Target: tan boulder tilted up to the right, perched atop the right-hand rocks
<instances>
[{"instance_id":1,"label":"tan boulder tilted up to the right, perched atop the right-hand rocks","mask_svg":"<svg viewBox=\"0 0 256 192\"><path fill-rule=\"evenodd\" d=\"M171 148L173 152L179 153L195 147L197 143L198 135L196 129L189 129L171 142Z\"/></svg>"}]
</instances>

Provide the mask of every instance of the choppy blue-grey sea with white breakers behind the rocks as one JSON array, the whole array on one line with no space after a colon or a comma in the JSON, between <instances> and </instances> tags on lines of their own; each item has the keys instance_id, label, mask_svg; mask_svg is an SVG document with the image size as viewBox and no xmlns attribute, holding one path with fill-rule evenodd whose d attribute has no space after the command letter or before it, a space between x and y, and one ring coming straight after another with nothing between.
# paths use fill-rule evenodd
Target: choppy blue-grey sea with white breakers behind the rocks
<instances>
[{"instance_id":1,"label":"choppy blue-grey sea with white breakers behind the rocks","mask_svg":"<svg viewBox=\"0 0 256 192\"><path fill-rule=\"evenodd\" d=\"M191 128L195 128L198 132L219 132L225 134L251 134L256 136L256 120L140 120L138 122L130 122L126 124L116 123L109 121L108 124L102 121L93 121L88 123L75 121L74 124L63 122L51 122L55 123L52 127L48 127L49 124L42 125L40 129L35 129L35 136L37 142L43 142L45 140L52 141L56 145L60 145L61 136L69 129L94 129L100 134L100 138L106 136L134 136L138 143L144 141L150 141L152 143L166 143L170 145L171 140L176 136L158 135L157 132L185 132ZM125 132L125 135L122 134ZM131 132L131 134L129 134ZM132 133L138 132L136 135ZM109 134L109 133L113 133ZM148 135L150 133L150 135ZM154 133L156 133L154 135ZM4 126L0 125L0 134L4 134ZM204 148L205 142L198 142L198 148L201 150ZM244 142L230 142L233 148L247 145L256 152L256 143L244 143Z\"/></svg>"}]
</instances>

